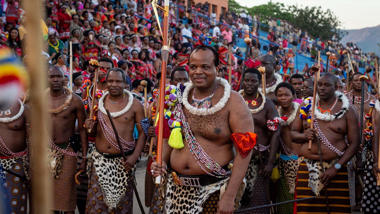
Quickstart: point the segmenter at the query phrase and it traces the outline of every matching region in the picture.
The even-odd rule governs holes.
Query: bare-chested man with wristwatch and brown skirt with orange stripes
[[[305,100],[307,105],[300,105],[293,122],[290,137],[292,142],[301,144],[301,154],[305,158],[298,169],[296,194],[298,198],[314,194],[325,196],[325,190],[322,191],[322,188],[326,187],[327,195],[331,197],[328,199],[330,212],[351,213],[346,164],[359,149],[359,121],[347,97],[336,92],[336,89],[335,75],[321,75],[315,100],[315,128],[310,129],[308,122],[312,105],[309,104],[309,99]],[[318,137],[315,137],[316,134]],[[309,140],[312,140],[311,150],[308,150]],[[320,170],[318,141],[324,173]],[[324,197],[297,203],[298,213],[326,211]]]

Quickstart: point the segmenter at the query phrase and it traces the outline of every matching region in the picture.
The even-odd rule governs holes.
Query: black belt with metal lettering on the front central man
[[[226,166],[223,166],[222,168],[225,169],[226,171],[229,171],[228,164]],[[227,178],[227,177],[219,178],[219,177],[211,176],[209,174],[188,176],[188,175],[178,174],[174,171],[171,173],[171,176],[173,177],[175,184],[182,185],[182,186],[189,186],[189,187],[204,187],[210,184],[215,184],[216,182],[219,182]]]

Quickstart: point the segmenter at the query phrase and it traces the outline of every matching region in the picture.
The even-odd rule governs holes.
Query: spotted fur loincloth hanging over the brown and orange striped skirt
[[[308,160],[305,158],[307,169],[309,170],[309,187],[311,188],[312,192],[319,197],[320,191],[323,189],[323,185],[321,184],[321,178],[319,177],[321,172],[320,167],[320,161],[317,160]],[[328,169],[332,167],[336,161],[338,161],[338,158],[335,160],[330,161],[323,161],[323,168]]]

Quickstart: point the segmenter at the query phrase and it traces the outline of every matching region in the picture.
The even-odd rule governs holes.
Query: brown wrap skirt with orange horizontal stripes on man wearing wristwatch
[[[299,165],[296,191],[297,199],[315,196],[309,187],[309,170],[306,161]],[[347,165],[342,166],[329,182],[327,193],[331,214],[351,213]],[[320,197],[299,201],[297,203],[297,214],[327,214],[325,189],[320,191]]]

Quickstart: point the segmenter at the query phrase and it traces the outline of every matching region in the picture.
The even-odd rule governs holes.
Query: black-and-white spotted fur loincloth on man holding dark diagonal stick
[[[89,155],[87,173],[91,173],[92,165],[95,168],[99,185],[104,194],[104,201],[109,211],[115,210],[127,192],[130,178],[120,161],[123,158],[105,158],[96,149]],[[130,169],[135,174],[136,164]]]

